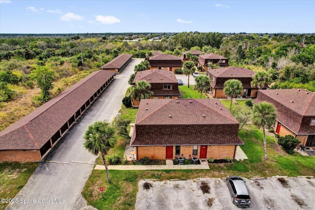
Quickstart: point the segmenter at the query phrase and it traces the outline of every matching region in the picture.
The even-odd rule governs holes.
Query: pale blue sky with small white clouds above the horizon
[[[315,0],[0,0],[0,33],[314,33]]]

